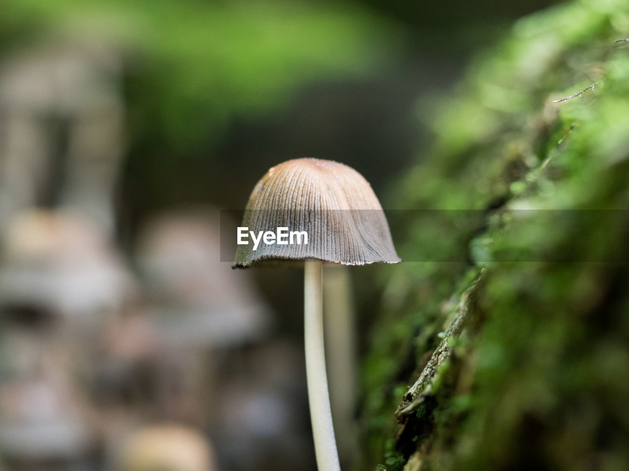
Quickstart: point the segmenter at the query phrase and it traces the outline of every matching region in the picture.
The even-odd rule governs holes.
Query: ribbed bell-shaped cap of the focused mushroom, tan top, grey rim
[[[265,244],[249,237],[234,268],[268,260],[320,260],[343,265],[399,263],[374,190],[342,163],[301,158],[270,168],[249,197],[242,227],[259,234],[278,227],[305,231],[308,244]],[[289,239],[290,241],[290,239]],[[296,240],[295,240],[296,242]]]

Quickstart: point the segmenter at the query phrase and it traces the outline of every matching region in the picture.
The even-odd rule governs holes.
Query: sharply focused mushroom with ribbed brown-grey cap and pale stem
[[[253,188],[238,244],[234,268],[305,261],[304,344],[316,461],[320,470],[340,470],[323,347],[322,267],[401,262],[382,207],[353,168],[314,158],[289,160]]]

